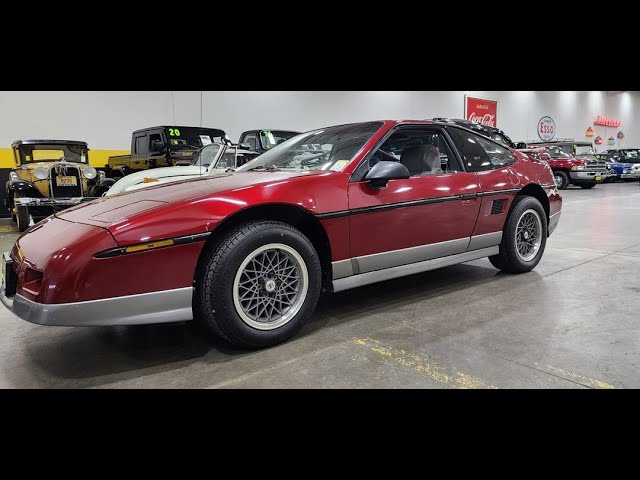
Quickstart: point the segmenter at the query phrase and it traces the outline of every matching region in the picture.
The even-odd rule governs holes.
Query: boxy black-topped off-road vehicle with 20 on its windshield
[[[202,147],[211,143],[229,145],[224,130],[204,127],[159,126],[136,130],[131,136],[131,154],[109,157],[108,177],[120,178],[155,167],[189,165]]]

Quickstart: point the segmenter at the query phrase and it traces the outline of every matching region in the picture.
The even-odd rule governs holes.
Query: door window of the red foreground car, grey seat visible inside
[[[399,129],[369,158],[363,174],[382,160],[402,163],[412,177],[461,171],[442,133],[432,128]]]

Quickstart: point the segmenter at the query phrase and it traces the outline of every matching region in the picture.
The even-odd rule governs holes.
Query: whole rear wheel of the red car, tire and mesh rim
[[[533,270],[547,244],[547,215],[540,201],[519,196],[511,207],[500,243],[500,253],[489,257],[491,264],[506,273]]]

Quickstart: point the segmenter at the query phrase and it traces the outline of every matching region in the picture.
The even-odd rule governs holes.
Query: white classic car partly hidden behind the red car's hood
[[[122,177],[107,190],[104,196],[131,192],[159,183],[179,182],[187,178],[213,175],[228,168],[237,168],[258,156],[251,150],[237,146],[212,143],[202,147],[193,160],[186,165],[162,167],[131,173]]]

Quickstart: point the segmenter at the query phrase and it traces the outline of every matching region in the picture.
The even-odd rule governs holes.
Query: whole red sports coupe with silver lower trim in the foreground
[[[261,347],[293,335],[322,290],[482,257],[529,271],[561,204],[545,162],[457,125],[328,127],[236,171],[56,213],[4,255],[0,296],[43,325],[195,318]]]

